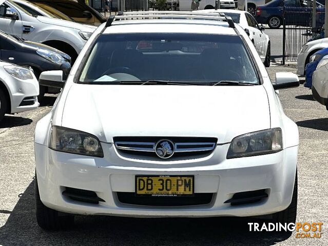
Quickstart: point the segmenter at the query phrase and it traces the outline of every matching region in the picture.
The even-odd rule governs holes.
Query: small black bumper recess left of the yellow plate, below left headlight
[[[66,187],[62,194],[63,196],[67,196],[75,201],[82,201],[93,204],[98,204],[100,201],[104,201],[102,198],[98,197],[94,191]]]

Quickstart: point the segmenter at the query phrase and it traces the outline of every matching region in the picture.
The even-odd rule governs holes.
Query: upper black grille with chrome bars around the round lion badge
[[[218,139],[212,137],[114,137],[114,144],[120,151],[156,157],[156,146],[161,140],[168,140],[173,144],[175,156],[195,156],[211,153]]]

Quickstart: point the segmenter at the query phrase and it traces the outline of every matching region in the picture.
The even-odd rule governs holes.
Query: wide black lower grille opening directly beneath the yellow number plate
[[[141,206],[196,206],[209,204],[213,198],[213,193],[195,193],[194,196],[136,196],[133,192],[117,192],[118,200],[121,203]]]

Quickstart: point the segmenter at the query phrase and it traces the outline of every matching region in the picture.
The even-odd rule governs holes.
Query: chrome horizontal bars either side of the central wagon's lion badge
[[[119,150],[155,152],[156,142],[117,141]],[[190,146],[190,148],[188,148]],[[197,152],[214,150],[216,142],[175,142],[175,152]]]

